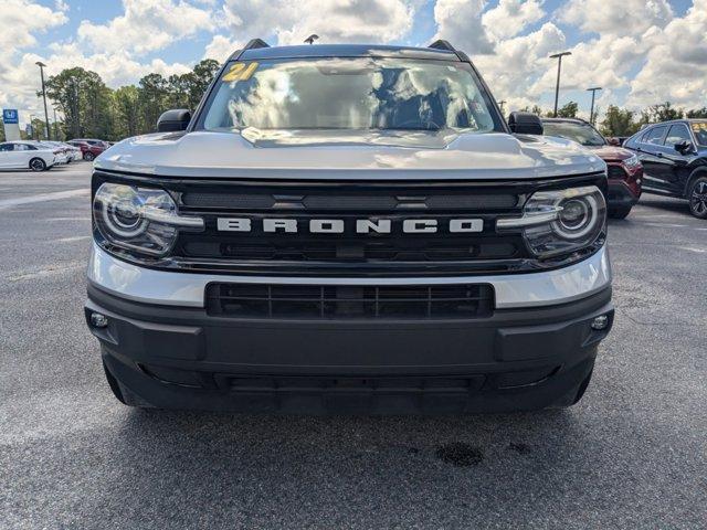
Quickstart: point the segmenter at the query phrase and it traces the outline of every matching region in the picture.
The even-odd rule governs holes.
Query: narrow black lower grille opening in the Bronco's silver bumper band
[[[207,311],[235,318],[484,318],[489,285],[325,286],[210,284]]]

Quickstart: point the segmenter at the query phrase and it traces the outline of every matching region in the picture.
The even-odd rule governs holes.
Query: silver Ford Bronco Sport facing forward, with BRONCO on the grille
[[[606,165],[538,128],[445,41],[251,41],[193,115],[95,162],[85,315],[116,398],[576,403],[613,321]]]

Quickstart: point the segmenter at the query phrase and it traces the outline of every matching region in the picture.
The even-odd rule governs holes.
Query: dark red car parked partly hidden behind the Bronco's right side
[[[542,118],[545,136],[558,136],[592,149],[609,166],[609,216],[624,219],[641,198],[643,166],[629,149],[613,146],[588,121],[577,118]]]

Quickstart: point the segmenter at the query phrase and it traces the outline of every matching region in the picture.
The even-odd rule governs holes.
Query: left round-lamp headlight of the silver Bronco
[[[178,231],[203,230],[203,220],[181,216],[163,190],[101,184],[93,200],[95,226],[109,243],[151,256],[167,254]]]

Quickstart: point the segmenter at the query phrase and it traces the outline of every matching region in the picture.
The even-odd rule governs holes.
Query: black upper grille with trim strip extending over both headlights
[[[395,170],[390,172],[391,180],[383,180],[383,173],[381,180],[140,177],[145,186],[168,190],[181,214],[204,220],[203,231],[180,231],[170,254],[156,258],[152,266],[194,273],[347,278],[466,276],[557,267],[560,259],[538,261],[523,231],[500,232],[497,220],[520,215],[527,198],[538,190],[605,186],[604,173],[520,180],[489,176],[473,181],[461,180],[460,171],[446,179],[447,171],[428,179],[414,172],[408,179]],[[95,191],[104,181],[133,183],[136,178],[97,171],[92,186]],[[312,230],[313,221],[326,220],[344,222],[344,230]],[[405,229],[410,220],[436,223],[437,230]],[[377,223],[376,229],[361,232],[359,221]],[[453,223],[469,221],[481,231],[463,232],[460,224],[452,229]],[[241,230],[241,222],[247,230]],[[275,222],[288,223],[287,230],[282,225],[273,230]],[[383,230],[380,223],[390,224]]]

